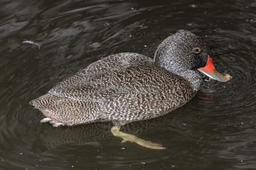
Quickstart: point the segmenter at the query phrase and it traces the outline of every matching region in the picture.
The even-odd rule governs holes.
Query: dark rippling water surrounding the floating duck
[[[0,169],[256,169],[255,1],[15,0],[0,11]],[[181,109],[122,127],[166,150],[121,143],[111,123],[39,123],[31,99],[107,55],[153,57],[179,29],[205,38],[233,79],[206,77]]]

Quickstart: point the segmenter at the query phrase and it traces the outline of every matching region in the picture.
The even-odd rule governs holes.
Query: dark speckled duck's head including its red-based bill
[[[157,48],[155,64],[170,72],[196,71],[218,81],[228,81],[231,76],[219,73],[211,57],[210,46],[200,36],[179,30],[166,38]]]

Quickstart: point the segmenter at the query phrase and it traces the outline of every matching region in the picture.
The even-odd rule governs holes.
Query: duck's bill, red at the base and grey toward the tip
[[[197,70],[205,74],[206,76],[213,78],[214,80],[218,80],[222,82],[229,81],[230,78],[232,78],[230,74],[218,72],[213,65],[213,59],[211,59],[210,56],[208,56],[208,61],[206,66],[199,68]]]

